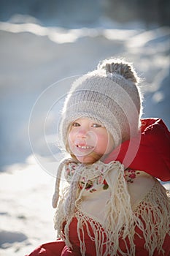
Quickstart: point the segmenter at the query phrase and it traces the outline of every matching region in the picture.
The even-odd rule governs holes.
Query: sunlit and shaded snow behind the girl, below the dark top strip
[[[0,255],[23,256],[55,239],[59,110],[77,75],[109,56],[131,61],[145,79],[143,117],[163,118],[170,128],[170,29],[136,24],[63,29],[0,22]]]

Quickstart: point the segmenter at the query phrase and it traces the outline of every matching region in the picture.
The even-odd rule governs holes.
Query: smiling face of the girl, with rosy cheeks
[[[71,124],[69,148],[80,162],[96,162],[113,147],[112,136],[102,124],[88,118],[79,118]]]

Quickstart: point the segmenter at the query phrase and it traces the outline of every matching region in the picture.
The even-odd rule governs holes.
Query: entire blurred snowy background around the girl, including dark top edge
[[[23,256],[55,238],[50,174],[58,161],[45,171],[34,159],[28,124],[35,103],[31,143],[47,159],[58,153],[58,112],[72,76],[109,56],[123,57],[144,78],[143,117],[163,118],[170,129],[169,5],[0,0],[0,255]]]

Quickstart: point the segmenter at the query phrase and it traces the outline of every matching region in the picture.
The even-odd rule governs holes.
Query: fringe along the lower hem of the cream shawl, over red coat
[[[145,241],[144,248],[149,256],[154,255],[155,251],[158,251],[159,255],[164,255],[163,242],[167,234],[170,236],[170,203],[167,195],[166,189],[159,184],[159,181],[155,181],[155,185],[150,189],[150,192],[136,206],[130,222],[126,222],[126,225],[118,231],[115,230],[115,232],[112,232],[112,227],[106,230],[106,227],[100,223],[85,216],[81,211],[76,211],[74,217],[77,218],[77,234],[80,240],[81,254],[85,256],[84,230],[86,230],[91,241],[95,243],[96,255],[135,256],[134,234],[136,233],[136,227],[139,227]],[[115,219],[112,219],[112,223],[115,223]],[[142,238],[139,233],[136,233],[136,235]],[[126,252],[121,250],[119,238],[123,240]]]

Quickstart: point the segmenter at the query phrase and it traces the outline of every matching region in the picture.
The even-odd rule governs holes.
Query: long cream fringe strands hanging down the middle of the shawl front
[[[109,173],[112,174],[112,173]],[[140,219],[137,218],[131,208],[131,197],[128,193],[128,186],[124,178],[123,165],[120,166],[118,172],[113,173],[114,176],[107,176],[107,184],[111,188],[111,198],[106,203],[106,216],[104,219],[104,230],[107,230],[107,246],[104,255],[116,255],[123,252],[119,246],[119,238],[121,237],[128,249],[125,238],[131,245],[131,252],[128,255],[135,255],[134,233],[136,225],[142,228]]]

